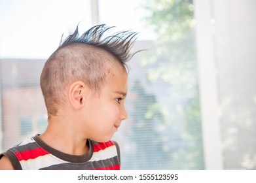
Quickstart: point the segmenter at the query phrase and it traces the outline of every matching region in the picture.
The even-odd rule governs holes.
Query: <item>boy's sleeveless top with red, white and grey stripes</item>
[[[48,146],[39,138],[39,135],[35,135],[35,137],[30,137],[10,148],[1,156],[7,156],[14,169],[120,169],[120,151],[116,142],[95,142],[88,139],[87,143],[89,146],[88,152],[81,156],[74,156]]]

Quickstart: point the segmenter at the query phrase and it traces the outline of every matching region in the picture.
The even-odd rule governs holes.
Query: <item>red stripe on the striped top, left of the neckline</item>
[[[19,161],[27,160],[27,159],[35,159],[39,156],[45,156],[46,154],[49,154],[49,152],[46,152],[43,150],[43,148],[35,148],[33,150],[26,150],[24,152],[16,152],[15,155],[19,159]]]

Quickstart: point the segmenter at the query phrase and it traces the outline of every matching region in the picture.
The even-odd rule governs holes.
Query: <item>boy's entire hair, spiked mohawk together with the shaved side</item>
[[[67,91],[73,82],[84,82],[97,95],[115,71],[126,72],[137,33],[120,31],[109,35],[112,30],[113,27],[96,25],[79,36],[77,27],[47,59],[40,84],[48,118],[56,116],[67,102]]]

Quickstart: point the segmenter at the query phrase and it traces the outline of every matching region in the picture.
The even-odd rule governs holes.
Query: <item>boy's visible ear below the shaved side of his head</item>
[[[79,109],[84,106],[84,94],[85,94],[84,82],[77,81],[71,84],[69,87],[69,102],[75,109]]]

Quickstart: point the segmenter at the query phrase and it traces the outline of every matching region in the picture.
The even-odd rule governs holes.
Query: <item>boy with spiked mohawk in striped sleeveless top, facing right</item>
[[[137,33],[96,25],[78,27],[48,58],[41,90],[48,112],[44,133],[0,155],[0,169],[120,169],[110,141],[128,116],[126,61]]]

